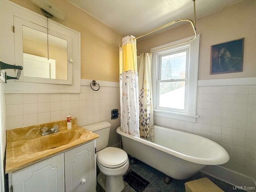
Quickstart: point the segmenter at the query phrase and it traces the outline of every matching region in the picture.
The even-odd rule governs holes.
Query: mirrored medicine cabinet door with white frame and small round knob
[[[70,30],[47,20],[43,24],[14,16],[15,62],[23,67],[16,81],[72,85]]]

